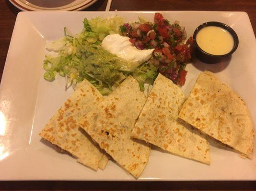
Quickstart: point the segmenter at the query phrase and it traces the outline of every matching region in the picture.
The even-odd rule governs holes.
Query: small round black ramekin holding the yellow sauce
[[[204,28],[204,27],[207,27],[207,26],[217,26],[217,27],[221,27],[225,30],[227,30],[228,32],[230,32],[230,34],[233,36],[233,40],[234,40],[234,46],[233,46],[233,49],[229,52],[229,53],[226,53],[226,54],[223,54],[223,55],[213,55],[213,54],[210,54],[210,53],[206,53],[205,51],[203,51],[199,46],[198,46],[198,43],[196,41],[196,37],[197,37],[197,34],[198,32]],[[198,28],[195,30],[194,32],[194,35],[193,35],[193,40],[194,40],[194,44],[195,44],[195,55],[196,57],[204,62],[204,63],[208,63],[208,64],[215,64],[215,63],[218,63],[220,62],[223,58],[226,58],[228,56],[230,56],[233,52],[235,52],[235,50],[237,49],[238,47],[238,37],[237,37],[237,34],[234,32],[234,30],[229,27],[228,25],[224,24],[224,23],[221,23],[221,22],[216,22],[216,21],[210,21],[210,22],[205,22],[201,25],[198,26]]]

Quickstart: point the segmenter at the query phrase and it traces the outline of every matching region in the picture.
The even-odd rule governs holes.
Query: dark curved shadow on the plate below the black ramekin
[[[195,58],[192,64],[202,72],[204,72],[205,70],[209,70],[213,73],[218,73],[224,70],[226,67],[228,67],[231,57],[232,56],[229,56],[216,64],[206,64]]]

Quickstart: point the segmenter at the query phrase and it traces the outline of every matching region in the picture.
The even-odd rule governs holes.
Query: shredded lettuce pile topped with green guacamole
[[[66,88],[87,79],[103,95],[112,92],[130,74],[140,83],[141,90],[145,83],[152,84],[157,69],[150,61],[132,68],[131,62],[102,48],[105,36],[120,33],[119,26],[122,24],[121,17],[96,17],[89,21],[85,18],[83,30],[78,35],[70,36],[64,28],[65,37],[47,46],[48,51],[58,55],[46,55],[44,78],[51,82],[59,74],[66,78]]]

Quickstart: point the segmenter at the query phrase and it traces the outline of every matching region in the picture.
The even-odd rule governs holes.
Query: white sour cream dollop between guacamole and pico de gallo
[[[109,34],[102,41],[102,47],[118,57],[139,64],[149,60],[154,49],[138,50],[129,41],[129,37],[119,34]]]

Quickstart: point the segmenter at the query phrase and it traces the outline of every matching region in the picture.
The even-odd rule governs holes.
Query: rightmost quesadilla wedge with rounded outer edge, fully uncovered
[[[253,158],[254,129],[244,101],[213,73],[198,76],[179,117],[233,149]]]

